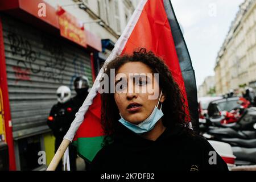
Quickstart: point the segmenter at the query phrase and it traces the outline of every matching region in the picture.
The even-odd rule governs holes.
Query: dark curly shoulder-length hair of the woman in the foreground
[[[185,99],[177,83],[174,81],[172,74],[160,57],[153,52],[140,48],[134,51],[133,55],[121,55],[115,57],[106,65],[104,73],[110,77],[110,69],[115,69],[115,72],[125,63],[141,62],[146,64],[152,73],[159,73],[159,86],[163,90],[166,99],[162,104],[163,125],[172,127],[177,124],[183,125],[184,129],[188,129],[188,121],[190,116],[185,113]],[[110,83],[109,83],[110,88]],[[119,110],[114,100],[114,93],[101,94],[101,122],[105,133],[105,144],[108,143],[109,137],[117,130],[118,119],[120,119]]]

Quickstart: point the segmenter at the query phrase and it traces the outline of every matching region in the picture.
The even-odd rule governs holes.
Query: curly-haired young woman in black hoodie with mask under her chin
[[[109,78],[111,69],[115,92],[101,94],[104,147],[89,170],[228,170],[207,140],[189,129],[184,97],[163,60],[142,48],[110,62]]]

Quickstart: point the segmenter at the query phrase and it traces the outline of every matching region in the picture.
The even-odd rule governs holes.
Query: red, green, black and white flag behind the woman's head
[[[142,47],[166,61],[184,94],[185,105],[189,107],[187,112],[198,121],[195,74],[170,0],[142,0],[105,64],[115,56],[133,53],[135,49]],[[102,73],[103,69],[64,137],[74,140],[80,156],[89,161],[101,149],[104,137],[100,122],[101,98],[97,92]],[[197,131],[198,123],[192,123],[192,126]]]

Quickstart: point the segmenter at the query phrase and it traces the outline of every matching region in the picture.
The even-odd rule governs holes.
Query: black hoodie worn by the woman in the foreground
[[[114,142],[95,156],[89,171],[228,171],[217,152],[209,154],[214,149],[206,139],[188,134],[182,126],[167,127],[155,141],[121,124],[118,131]],[[214,156],[216,164],[210,164]]]

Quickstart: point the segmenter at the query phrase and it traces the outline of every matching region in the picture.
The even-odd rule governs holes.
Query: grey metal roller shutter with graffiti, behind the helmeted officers
[[[85,48],[2,15],[7,82],[14,139],[49,131],[49,111],[56,89],[72,89],[76,76],[92,83],[90,55]]]

